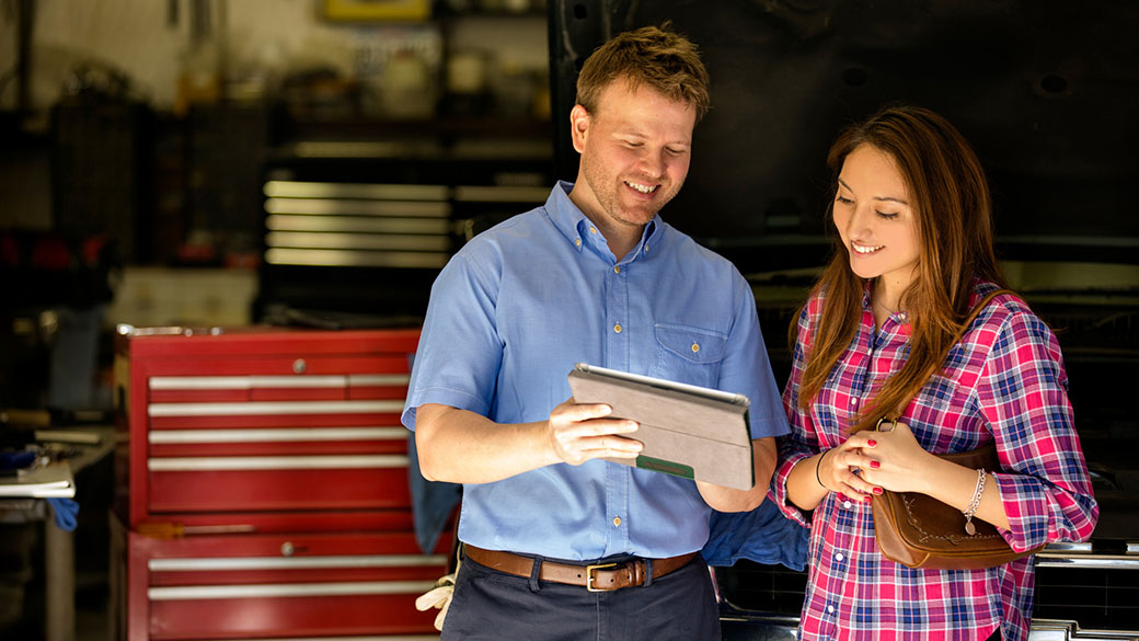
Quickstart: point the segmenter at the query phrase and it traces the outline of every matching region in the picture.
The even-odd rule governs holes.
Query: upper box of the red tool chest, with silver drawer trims
[[[118,513],[134,527],[181,513],[410,506],[400,413],[418,335],[118,336]]]

